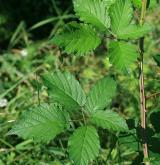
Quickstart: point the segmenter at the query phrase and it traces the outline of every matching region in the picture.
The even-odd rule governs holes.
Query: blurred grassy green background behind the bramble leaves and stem
[[[135,13],[136,17],[139,11]],[[153,32],[145,39],[147,96],[160,92],[159,13],[160,6],[155,3],[150,7],[146,19],[153,25]],[[0,165],[70,164],[65,148],[67,135],[57,137],[49,144],[37,144],[32,140],[24,141],[17,136],[7,135],[22,111],[39,102],[47,102],[47,93],[40,78],[45,72],[57,69],[70,71],[86,92],[104,75],[114,76],[118,91],[112,103],[113,109],[126,119],[134,119],[135,124],[139,121],[138,64],[127,75],[116,72],[107,57],[109,40],[105,38],[94,55],[76,57],[64,54],[50,40],[71,20],[76,20],[71,0],[0,0]],[[160,126],[159,108],[160,98],[147,101],[147,120],[151,128],[154,128],[155,121]],[[132,120],[129,121],[132,123]],[[151,128],[148,129],[152,135],[155,132]],[[132,131],[135,135],[136,130]],[[160,153],[157,147],[160,134],[157,132],[156,140],[151,139],[154,143],[156,141],[150,147],[153,155]],[[138,165],[141,162],[141,151],[135,136],[122,137],[115,146],[114,135],[101,130],[100,134],[103,146],[98,157],[100,165],[105,165],[106,160],[107,165],[119,165],[120,161],[125,165]]]

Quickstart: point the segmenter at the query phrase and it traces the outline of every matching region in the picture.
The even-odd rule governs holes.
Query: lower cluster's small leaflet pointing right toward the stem
[[[93,113],[90,121],[98,127],[111,131],[127,131],[126,121],[116,112],[106,110]]]

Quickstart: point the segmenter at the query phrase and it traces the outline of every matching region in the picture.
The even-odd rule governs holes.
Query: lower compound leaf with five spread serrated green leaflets
[[[99,80],[87,97],[79,82],[69,73],[56,72],[45,75],[43,79],[51,100],[59,104],[44,104],[25,112],[9,134],[49,142],[70,129],[74,122],[80,122],[81,125],[69,138],[68,152],[75,164],[88,164],[99,153],[98,127],[110,131],[128,131],[121,116],[104,110],[116,92],[116,83],[112,78]],[[75,118],[76,114],[79,114],[78,119]]]

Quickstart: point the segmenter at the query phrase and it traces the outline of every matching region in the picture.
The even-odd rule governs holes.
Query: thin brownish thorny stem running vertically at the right
[[[142,0],[142,10],[140,17],[140,25],[144,24],[145,14],[147,8],[147,0]],[[148,161],[148,145],[147,145],[147,135],[146,135],[146,97],[144,89],[144,72],[143,72],[143,56],[144,56],[144,37],[140,38],[139,42],[140,47],[140,77],[139,77],[139,87],[140,87],[140,101],[141,101],[141,129],[142,129],[142,142],[143,142],[143,155],[145,165],[149,165]]]

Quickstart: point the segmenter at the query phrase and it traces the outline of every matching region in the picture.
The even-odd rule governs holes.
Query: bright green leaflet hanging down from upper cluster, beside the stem
[[[135,45],[117,41],[113,41],[109,45],[109,60],[120,71],[128,72],[137,57]]]

